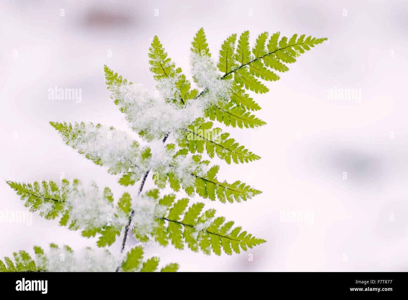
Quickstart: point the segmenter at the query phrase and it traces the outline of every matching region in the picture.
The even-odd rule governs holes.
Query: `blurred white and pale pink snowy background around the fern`
[[[0,210],[24,210],[5,180],[59,182],[63,172],[109,185],[115,196],[124,190],[118,177],[67,147],[48,124],[83,120],[126,129],[105,89],[104,64],[153,88],[147,51],[154,35],[188,74],[200,27],[214,58],[231,33],[249,30],[252,40],[263,31],[305,33],[329,42],[267,83],[269,93],[255,96],[262,107],[257,116],[267,125],[228,128],[262,160],[230,166],[215,160],[219,180],[240,179],[263,193],[241,204],[204,200],[268,242],[233,256],[154,245],[147,255],[178,262],[180,271],[408,271],[407,15],[407,2],[395,0],[2,0]],[[82,102],[48,100],[55,85],[81,88]],[[361,89],[361,103],[329,100],[335,86]],[[313,211],[313,224],[280,222],[286,210]],[[33,245],[48,249],[50,242],[95,245],[36,214],[32,226],[0,222],[0,236],[1,257]]]

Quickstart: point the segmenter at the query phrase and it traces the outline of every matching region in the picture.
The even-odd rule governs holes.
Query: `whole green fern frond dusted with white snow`
[[[60,184],[40,181],[33,184],[8,181],[25,206],[40,216],[58,219],[61,226],[80,230],[84,237],[98,237],[95,249],[74,253],[68,246],[51,244],[46,253],[34,247],[35,258],[25,251],[14,253],[14,261],[0,260],[1,271],[155,271],[156,257],[144,260],[143,247],[126,247],[128,231],[141,242],[154,240],[162,246],[220,255],[240,253],[265,240],[234,227],[234,222],[216,217],[215,210],[204,209],[204,203],[190,204],[188,198],[174,194],[161,195],[169,186],[188,196],[223,203],[246,201],[261,191],[248,184],[227,183],[217,179],[219,166],[210,159],[217,156],[227,164],[259,160],[252,151],[216,127],[254,128],[266,124],[254,115],[261,107],[247,91],[266,93],[263,81],[279,79],[277,72],[288,71],[286,64],[326,38],[279,32],[268,38],[261,33],[251,48],[249,32],[229,36],[221,46],[218,63],[212,60],[204,30],[200,29],[191,46],[191,78],[167,56],[157,36],[149,48],[150,71],[157,82],[156,91],[133,84],[107,66],[106,85],[111,98],[124,113],[126,121],[140,140],[124,131],[90,122],[50,122],[64,142],[95,164],[118,175],[119,183],[129,192],[114,198],[108,187],[94,182],[82,183],[63,179]],[[193,87],[194,85],[194,87]],[[207,159],[206,159],[207,158]],[[157,189],[144,191],[146,180]],[[132,186],[139,182],[139,187]],[[122,244],[120,255],[109,247]],[[102,249],[100,249],[102,248]],[[64,254],[69,263],[59,258]],[[97,254],[98,253],[98,254]],[[86,263],[84,260],[88,259]],[[176,271],[177,264],[161,271]]]

